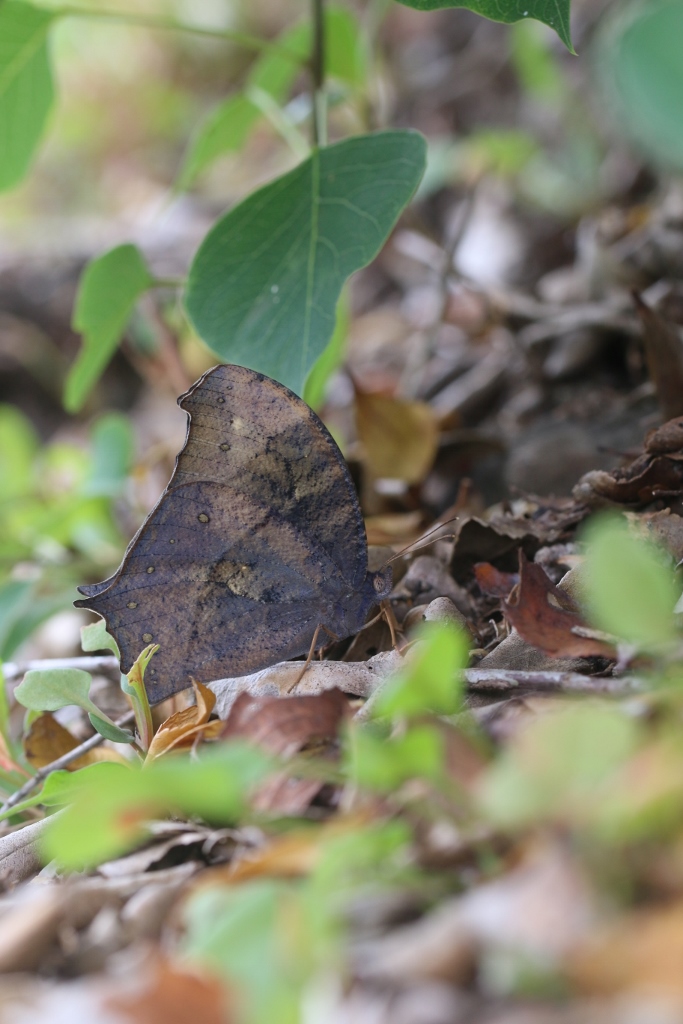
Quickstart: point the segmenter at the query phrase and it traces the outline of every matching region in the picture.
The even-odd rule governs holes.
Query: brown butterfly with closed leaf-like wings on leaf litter
[[[122,672],[159,644],[156,703],[189,685],[307,654],[321,630],[357,633],[391,590],[368,568],[355,488],[308,406],[263,374],[209,370],[178,398],[185,443],[168,486],[103,583],[79,587]]]

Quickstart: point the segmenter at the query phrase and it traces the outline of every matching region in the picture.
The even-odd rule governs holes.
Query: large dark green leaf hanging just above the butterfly
[[[344,282],[380,251],[424,166],[417,132],[377,132],[316,151],[252,193],[193,262],[185,306],[200,337],[301,394]]]

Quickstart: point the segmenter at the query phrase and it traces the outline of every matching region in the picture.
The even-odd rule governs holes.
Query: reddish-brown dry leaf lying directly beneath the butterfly
[[[225,720],[221,738],[240,736],[269,754],[289,758],[304,746],[335,739],[346,715],[348,700],[336,688],[300,697],[241,693]]]

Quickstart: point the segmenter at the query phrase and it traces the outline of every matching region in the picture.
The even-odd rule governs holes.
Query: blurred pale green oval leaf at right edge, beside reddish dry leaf
[[[595,626],[645,649],[675,641],[679,592],[668,556],[612,515],[596,516],[584,540],[586,602]]]

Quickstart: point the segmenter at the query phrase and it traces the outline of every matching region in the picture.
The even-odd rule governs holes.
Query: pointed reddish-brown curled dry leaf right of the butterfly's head
[[[551,604],[554,597],[557,604]],[[600,640],[578,636],[582,618],[567,607],[567,595],[554,586],[541,565],[520,552],[519,590],[503,602],[506,617],[527,643],[553,657],[614,657],[614,649]]]

